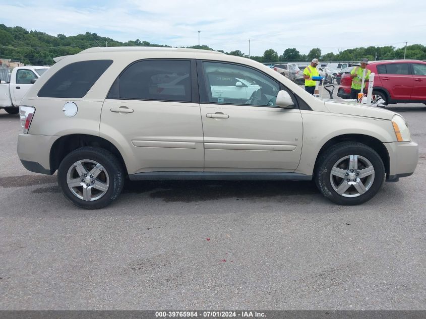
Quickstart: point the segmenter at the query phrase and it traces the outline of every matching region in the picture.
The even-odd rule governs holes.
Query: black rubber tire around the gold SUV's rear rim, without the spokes
[[[101,179],[106,178],[106,181],[109,182],[109,186],[106,192],[100,192],[99,190],[95,189],[94,185],[93,187],[91,187],[91,192],[99,192],[103,194],[102,197],[98,199],[90,201],[80,199],[77,197],[77,195],[75,195],[75,193],[72,192],[70,187],[68,187],[67,176],[70,173],[69,170],[72,171],[73,168],[75,169],[74,163],[82,160],[94,161],[100,164],[102,166],[102,170],[99,173],[99,176],[101,176]],[[90,164],[87,167],[88,168],[86,169],[86,171],[88,172],[90,170]],[[74,174],[75,176],[72,178],[78,177],[79,175],[76,169]],[[62,193],[64,194],[65,198],[67,198],[71,203],[84,209],[99,209],[109,205],[120,195],[124,185],[124,175],[125,174],[123,167],[112,153],[102,148],[89,146],[82,147],[71,152],[62,160],[57,170],[57,181],[60,188],[62,189]],[[98,179],[95,177],[93,180]],[[104,180],[99,180],[99,182],[103,181]],[[96,183],[96,181],[94,181],[94,183]],[[83,187],[84,186],[76,186],[73,189],[75,189],[75,192],[83,196]]]

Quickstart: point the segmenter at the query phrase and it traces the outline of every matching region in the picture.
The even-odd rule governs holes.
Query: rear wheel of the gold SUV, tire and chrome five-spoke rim
[[[97,147],[82,147],[63,159],[57,180],[71,203],[85,209],[99,209],[121,193],[124,172],[112,153]]]

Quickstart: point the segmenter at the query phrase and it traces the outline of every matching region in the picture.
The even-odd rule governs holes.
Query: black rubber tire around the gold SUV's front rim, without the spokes
[[[341,181],[340,185],[343,185],[343,183],[346,183],[346,181],[344,180],[346,177],[340,178],[338,176],[334,176],[334,174],[332,176],[331,170],[333,169],[335,163],[339,162],[342,158],[350,155],[358,156],[359,166],[362,165],[362,157],[370,161],[374,168],[374,174],[371,174],[370,177],[360,179],[360,182],[362,183],[370,183],[368,189],[367,187],[364,187],[364,189],[367,189],[365,193],[358,193],[355,189],[355,186],[350,185],[349,188],[347,188],[347,192],[349,194],[346,194],[345,192],[343,193],[344,195],[339,195],[333,187],[331,179],[333,179],[333,182],[336,182],[336,185],[339,180]],[[348,172],[350,171],[348,170]],[[357,170],[355,170],[355,173],[356,172]],[[317,184],[317,187],[320,192],[326,198],[339,205],[359,205],[371,200],[377,194],[383,184],[383,180],[385,179],[385,166],[383,165],[383,161],[380,156],[371,147],[358,142],[342,142],[330,147],[320,156],[314,174],[315,183]],[[350,176],[347,177],[349,178]],[[358,182],[356,183],[358,184]],[[353,192],[352,195],[351,192]]]

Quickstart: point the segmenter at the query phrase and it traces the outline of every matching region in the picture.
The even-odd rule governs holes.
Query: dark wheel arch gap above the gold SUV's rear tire
[[[50,148],[49,162],[50,162],[50,174],[53,174],[59,167],[60,162],[72,151],[77,150],[85,146],[94,146],[105,149],[112,154],[114,154],[120,164],[123,166],[123,169],[128,175],[126,163],[121,156],[121,153],[118,149],[106,139],[103,139],[94,135],[86,134],[71,134],[65,135],[57,139],[52,147]]]

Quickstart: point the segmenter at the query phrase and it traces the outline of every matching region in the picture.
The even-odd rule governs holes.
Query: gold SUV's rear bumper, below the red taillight
[[[50,149],[59,136],[23,134],[18,136],[18,156],[26,169],[35,173],[52,174]]]

